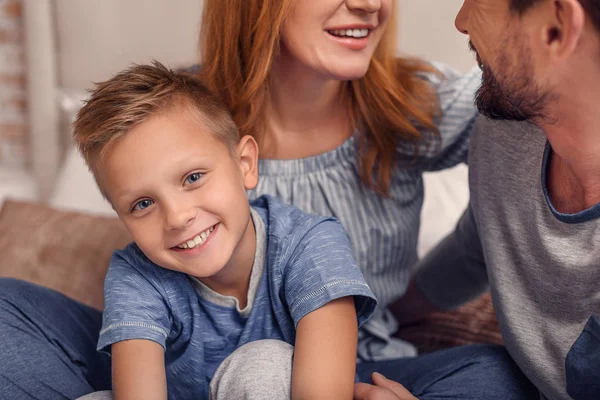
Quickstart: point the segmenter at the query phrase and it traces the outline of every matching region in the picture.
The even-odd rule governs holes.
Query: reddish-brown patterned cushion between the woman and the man
[[[489,293],[457,310],[432,313],[402,326],[396,336],[413,343],[422,353],[472,343],[502,344]]]

